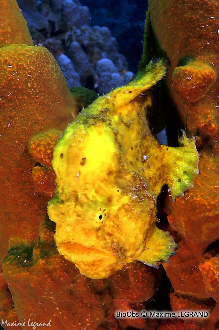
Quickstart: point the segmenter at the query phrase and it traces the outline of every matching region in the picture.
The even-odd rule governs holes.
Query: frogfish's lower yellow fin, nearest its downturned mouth
[[[145,247],[145,250],[138,256],[137,260],[158,268],[159,262],[168,262],[168,258],[176,254],[175,248],[177,244],[168,232],[160,230],[155,226]]]

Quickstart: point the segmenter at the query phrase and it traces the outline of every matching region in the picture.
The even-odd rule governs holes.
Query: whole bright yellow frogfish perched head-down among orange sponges
[[[96,99],[68,125],[52,166],[57,190],[48,215],[58,251],[92,279],[107,278],[140,260],[158,267],[175,254],[168,232],[156,226],[156,201],[167,184],[173,199],[198,174],[195,140],[159,145],[147,122],[147,91],[165,75],[162,60],[144,74]]]

